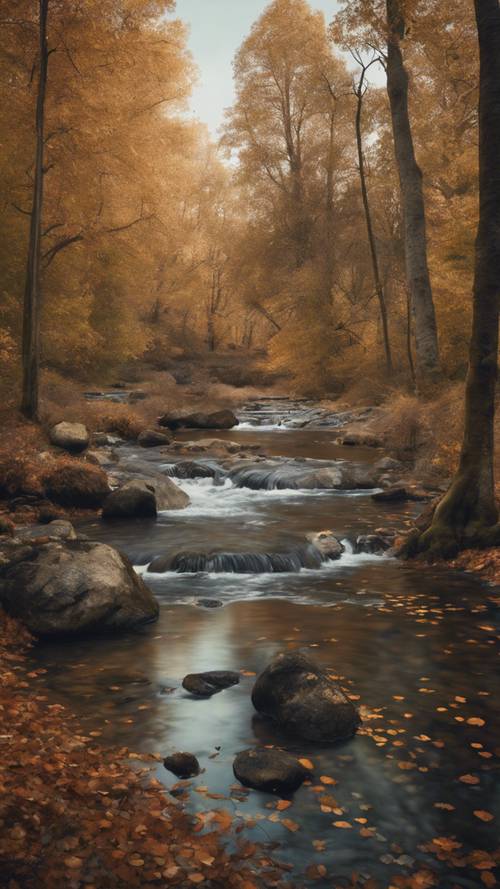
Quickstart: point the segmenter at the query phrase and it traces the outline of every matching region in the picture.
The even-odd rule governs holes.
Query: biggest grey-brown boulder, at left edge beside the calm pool
[[[0,602],[35,636],[130,630],[158,617],[129,560],[106,544],[35,542],[2,555]]]

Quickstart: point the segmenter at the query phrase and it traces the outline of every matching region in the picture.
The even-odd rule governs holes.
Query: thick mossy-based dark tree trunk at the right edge
[[[500,304],[500,6],[475,0],[480,53],[479,228],[473,321],[460,465],[432,524],[408,543],[410,554],[452,554],[500,543],[494,486],[495,389]]]

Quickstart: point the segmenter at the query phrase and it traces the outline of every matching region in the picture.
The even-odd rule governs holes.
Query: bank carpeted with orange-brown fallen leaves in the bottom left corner
[[[186,814],[151,774],[160,754],[110,749],[99,732],[85,734],[44,693],[45,671],[26,659],[30,644],[0,610],[2,886],[290,885],[264,848],[237,836],[229,810]]]

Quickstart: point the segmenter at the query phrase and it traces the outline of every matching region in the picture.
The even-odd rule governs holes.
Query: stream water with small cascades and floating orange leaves
[[[317,415],[296,428],[308,410],[263,402],[246,411],[237,430],[216,434],[242,447],[309,458],[314,466],[366,465],[380,457],[339,448],[334,429]],[[139,455],[127,447],[120,456],[169,471],[156,451]],[[313,881],[319,887],[347,885],[353,872],[389,886],[429,867],[443,889],[485,885],[481,874],[490,872],[487,853],[500,822],[494,781],[500,599],[458,572],[353,553],[358,534],[404,529],[418,512],[415,504],[376,504],[369,491],[251,490],[219,482],[180,481],[191,506],[162,513],[157,522],[81,527],[128,554],[160,601],[160,619],[122,638],[40,645],[33,659],[47,670],[39,680],[46,693],[76,712],[88,731],[100,732],[103,743],[194,753],[204,771],[191,782],[187,805],[227,809],[249,824],[251,836],[280,842],[279,857],[295,865],[299,886],[309,885],[308,865],[326,867],[328,876]],[[308,532],[324,529],[342,538],[346,551],[320,570],[147,570],[155,557],[182,551],[289,551]],[[219,607],[203,607],[207,599]],[[283,737],[254,712],[254,674],[278,651],[297,647],[339,676],[361,706],[356,738],[317,747]],[[219,669],[241,671],[240,684],[209,700],[182,690],[187,673]],[[312,786],[303,786],[283,813],[271,808],[270,795],[234,789],[235,753],[258,743],[282,745],[314,763]],[[167,788],[176,783],[161,764],[157,777]]]

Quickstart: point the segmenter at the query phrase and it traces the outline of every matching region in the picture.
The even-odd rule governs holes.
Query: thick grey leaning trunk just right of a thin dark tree
[[[402,0],[386,0],[386,8],[387,92],[404,216],[406,276],[415,318],[417,374],[424,380],[439,373],[439,346],[427,263],[422,172],[413,146],[408,110],[408,73],[401,52],[401,41],[405,35]]]

